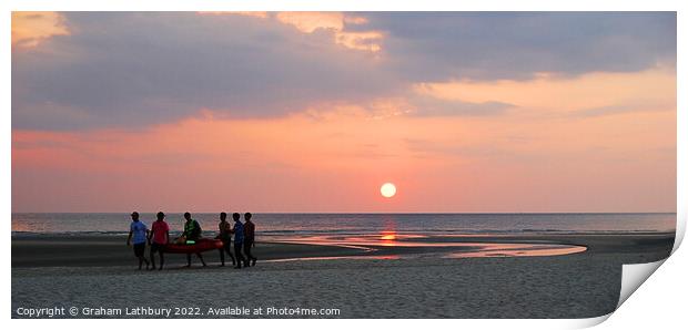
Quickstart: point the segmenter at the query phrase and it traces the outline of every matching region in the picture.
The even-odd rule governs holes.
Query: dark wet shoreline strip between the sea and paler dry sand
[[[674,234],[530,234],[530,235],[416,235],[395,240],[351,239],[355,236],[318,236],[317,239],[275,238],[256,241],[253,249],[261,261],[280,259],[334,257],[409,257],[451,252],[499,250],[504,246],[520,245],[526,250],[545,245],[585,247],[581,254],[659,254],[668,256]],[[125,237],[109,235],[41,235],[12,237],[12,268],[29,267],[108,267],[134,265],[131,247]],[[492,245],[492,246],[480,246]],[[150,246],[146,246],[146,258]],[[203,252],[209,264],[219,262],[215,250]],[[508,256],[503,256],[508,257]],[[512,256],[514,257],[514,256]],[[524,257],[527,257],[524,256]],[[193,260],[196,258],[194,257]],[[226,261],[231,261],[229,257]],[[185,255],[165,254],[165,265],[185,264]],[[230,262],[231,264],[231,262]]]

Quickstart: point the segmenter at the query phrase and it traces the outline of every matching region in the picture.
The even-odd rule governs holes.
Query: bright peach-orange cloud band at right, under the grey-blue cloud
[[[646,111],[676,109],[676,72],[595,72],[575,78],[540,74],[526,81],[451,81],[418,83],[413,91],[442,100],[502,102],[522,109],[568,113],[625,105]]]

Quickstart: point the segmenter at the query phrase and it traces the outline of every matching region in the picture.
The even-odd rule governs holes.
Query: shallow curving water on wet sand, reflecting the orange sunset
[[[442,238],[442,239],[439,239]],[[447,241],[447,238],[456,239]],[[489,237],[485,237],[489,240]],[[492,257],[546,257],[579,254],[585,246],[555,243],[496,243],[461,241],[461,237],[408,235],[383,231],[380,235],[322,235],[293,236],[274,239],[275,243],[336,246],[364,250],[366,255],[336,257],[286,258],[272,261],[336,260],[336,259],[405,259],[405,258],[492,258]]]

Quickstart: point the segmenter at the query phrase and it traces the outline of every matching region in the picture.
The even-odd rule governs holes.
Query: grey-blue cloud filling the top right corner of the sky
[[[676,64],[675,12],[366,12],[414,81],[525,80]],[[355,28],[355,27],[352,27]]]

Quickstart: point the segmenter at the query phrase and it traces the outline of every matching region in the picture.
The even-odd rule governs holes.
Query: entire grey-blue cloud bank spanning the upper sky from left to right
[[[570,80],[668,68],[675,76],[675,13],[41,17],[61,28],[27,37],[22,44],[36,45],[13,53],[13,128],[138,127],[202,110],[274,117],[380,99],[403,99],[413,115],[485,115],[524,104],[504,95],[416,95],[417,87],[539,83],[543,72]]]

